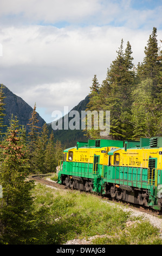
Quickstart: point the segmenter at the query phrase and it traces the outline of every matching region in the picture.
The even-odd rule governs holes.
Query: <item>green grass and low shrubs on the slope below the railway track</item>
[[[72,239],[107,235],[93,243],[162,244],[157,228],[132,220],[128,212],[92,194],[54,190],[41,184],[36,185],[33,194],[36,232],[31,243],[63,244]],[[127,227],[129,220],[133,224]]]

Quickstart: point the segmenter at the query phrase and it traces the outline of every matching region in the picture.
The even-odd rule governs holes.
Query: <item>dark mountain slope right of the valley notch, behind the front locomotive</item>
[[[89,96],[86,96],[84,100],[80,101],[77,106],[75,106],[71,111],[78,111],[80,114],[80,127],[81,127],[81,111],[86,110],[86,106],[89,102]],[[70,112],[71,112],[70,111]],[[69,113],[68,113],[69,115]],[[69,118],[68,115],[65,115],[62,119],[62,126],[64,127],[64,120],[68,118],[68,121],[73,118]],[[49,124],[49,130],[52,131],[52,125]],[[80,130],[53,130],[55,139],[59,139],[64,148],[74,147],[77,141],[87,141],[87,137],[84,135],[85,133]]]

